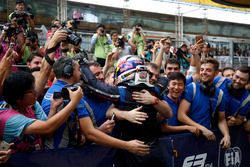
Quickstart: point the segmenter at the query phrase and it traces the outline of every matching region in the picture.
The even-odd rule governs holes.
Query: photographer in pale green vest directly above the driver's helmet
[[[146,46],[146,39],[142,31],[142,25],[136,24],[132,32],[128,34],[128,43],[132,48],[136,48],[135,55],[141,55]]]

